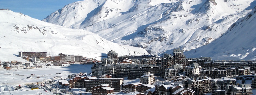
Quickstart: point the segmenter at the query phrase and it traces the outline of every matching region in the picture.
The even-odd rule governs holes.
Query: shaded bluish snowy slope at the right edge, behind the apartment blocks
[[[212,43],[185,52],[187,57],[207,56],[217,60],[256,59],[256,7],[245,17],[237,20],[223,36]]]

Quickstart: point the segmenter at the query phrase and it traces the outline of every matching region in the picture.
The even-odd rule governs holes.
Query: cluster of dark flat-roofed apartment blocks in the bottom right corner
[[[203,95],[212,93],[212,95],[252,95],[251,84],[237,84],[233,78],[189,78],[182,81],[184,87],[190,88]]]

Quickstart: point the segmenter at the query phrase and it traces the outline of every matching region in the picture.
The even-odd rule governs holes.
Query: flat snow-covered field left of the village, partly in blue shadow
[[[43,95],[50,94],[49,91],[45,92],[42,89],[38,90],[30,90],[29,88],[24,88],[22,91],[14,90],[16,86],[26,86],[26,84],[30,83],[37,83],[41,84],[43,81],[48,81],[50,79],[58,80],[61,78],[68,78],[68,75],[79,73],[79,72],[86,72],[91,73],[92,65],[80,65],[74,64],[70,65],[69,67],[66,66],[69,64],[65,64],[64,67],[57,67],[57,66],[45,66],[43,68],[36,68],[36,69],[17,69],[17,70],[0,70],[0,95],[10,95],[11,91],[12,95],[38,95],[42,93]],[[61,74],[56,74],[61,73]],[[31,74],[35,74],[32,78],[27,78],[31,76]],[[36,77],[40,77],[39,79],[35,79]]]

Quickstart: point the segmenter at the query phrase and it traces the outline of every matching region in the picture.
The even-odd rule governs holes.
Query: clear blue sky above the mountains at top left
[[[42,20],[65,5],[82,0],[1,0],[0,9],[20,12]]]

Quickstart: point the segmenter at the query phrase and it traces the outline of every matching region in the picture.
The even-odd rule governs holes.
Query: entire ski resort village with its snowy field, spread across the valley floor
[[[214,61],[172,54],[118,56],[97,61],[82,55],[18,52],[26,62],[1,62],[1,94],[252,95],[255,61]]]

